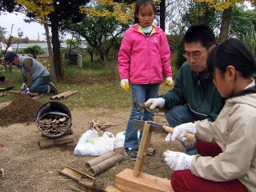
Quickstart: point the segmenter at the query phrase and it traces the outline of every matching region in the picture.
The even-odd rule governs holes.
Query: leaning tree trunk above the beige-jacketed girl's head
[[[219,42],[224,42],[227,39],[227,34],[229,33],[230,18],[231,18],[232,6],[226,9],[222,13],[222,25],[219,33]]]

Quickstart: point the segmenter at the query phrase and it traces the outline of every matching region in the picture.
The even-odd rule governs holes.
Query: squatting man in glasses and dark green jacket
[[[224,98],[218,93],[206,69],[206,58],[216,44],[213,31],[204,25],[191,26],[184,35],[183,44],[186,62],[178,71],[174,89],[146,102],[152,104],[151,110],[156,106],[169,110],[165,115],[172,127],[203,119],[213,122],[224,105]],[[198,141],[197,148],[192,149],[186,146],[186,142],[182,145],[186,154],[198,154],[198,148],[215,146],[215,143]]]

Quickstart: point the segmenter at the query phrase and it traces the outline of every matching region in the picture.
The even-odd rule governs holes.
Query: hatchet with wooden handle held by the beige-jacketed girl
[[[171,134],[174,132],[174,128],[170,126],[162,126],[158,123],[148,122],[148,121],[146,121],[146,123],[150,124],[150,131],[154,131],[158,133],[168,132]],[[143,130],[144,125],[145,125],[145,121],[134,120],[134,130]],[[187,138],[187,142],[190,144],[195,142],[194,134],[186,133],[184,137]]]

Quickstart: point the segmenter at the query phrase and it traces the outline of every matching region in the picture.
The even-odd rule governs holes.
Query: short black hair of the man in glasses
[[[206,47],[206,49],[216,44],[213,30],[205,25],[191,26],[190,29],[186,30],[183,44],[191,42],[201,42],[202,46]]]

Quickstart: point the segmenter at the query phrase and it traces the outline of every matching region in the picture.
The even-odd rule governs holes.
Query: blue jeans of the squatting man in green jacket
[[[166,120],[171,127],[179,126],[182,123],[194,122],[199,120],[197,118],[194,118],[194,116],[190,113],[190,110],[188,110],[186,105],[174,106],[165,115]],[[189,148],[188,146],[186,146],[185,142],[181,143],[186,150],[186,154],[198,154],[198,150],[195,147]]]

